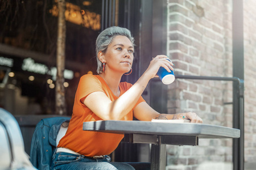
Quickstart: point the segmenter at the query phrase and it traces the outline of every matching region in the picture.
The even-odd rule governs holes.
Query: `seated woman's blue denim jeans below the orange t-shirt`
[[[68,170],[134,170],[134,169],[150,169],[150,163],[119,163],[110,162],[110,157],[89,158],[84,155],[69,154],[66,152],[57,152],[53,154],[52,169],[68,169]]]

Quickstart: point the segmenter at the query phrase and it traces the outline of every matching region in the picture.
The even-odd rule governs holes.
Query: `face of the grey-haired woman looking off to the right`
[[[115,36],[104,54],[106,70],[127,73],[133,65],[133,43],[126,36]]]

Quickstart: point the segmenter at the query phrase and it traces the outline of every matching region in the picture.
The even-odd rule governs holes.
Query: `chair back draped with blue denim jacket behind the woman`
[[[30,160],[38,169],[51,169],[52,155],[65,135],[70,117],[43,118],[37,125],[31,141]]]

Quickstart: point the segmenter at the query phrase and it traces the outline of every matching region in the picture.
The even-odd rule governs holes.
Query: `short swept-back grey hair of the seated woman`
[[[102,31],[100,35],[98,35],[96,40],[96,58],[98,65],[98,74],[101,74],[103,71],[103,63],[100,61],[100,59],[98,59],[98,52],[105,53],[108,49],[109,44],[113,41],[114,37],[118,35],[126,36],[131,41],[133,46],[135,46],[134,37],[131,36],[131,32],[129,29],[113,26],[106,28],[104,31]]]

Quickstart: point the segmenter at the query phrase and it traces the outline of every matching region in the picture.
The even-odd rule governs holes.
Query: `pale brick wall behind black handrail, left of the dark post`
[[[167,4],[167,53],[175,74],[232,76],[232,0]],[[255,41],[251,50],[253,45]],[[205,124],[232,127],[232,105],[226,104],[233,100],[232,88],[232,82],[176,79],[168,86],[168,113],[192,111]],[[200,139],[199,146],[167,146],[167,150],[167,169],[233,169],[232,139]]]

